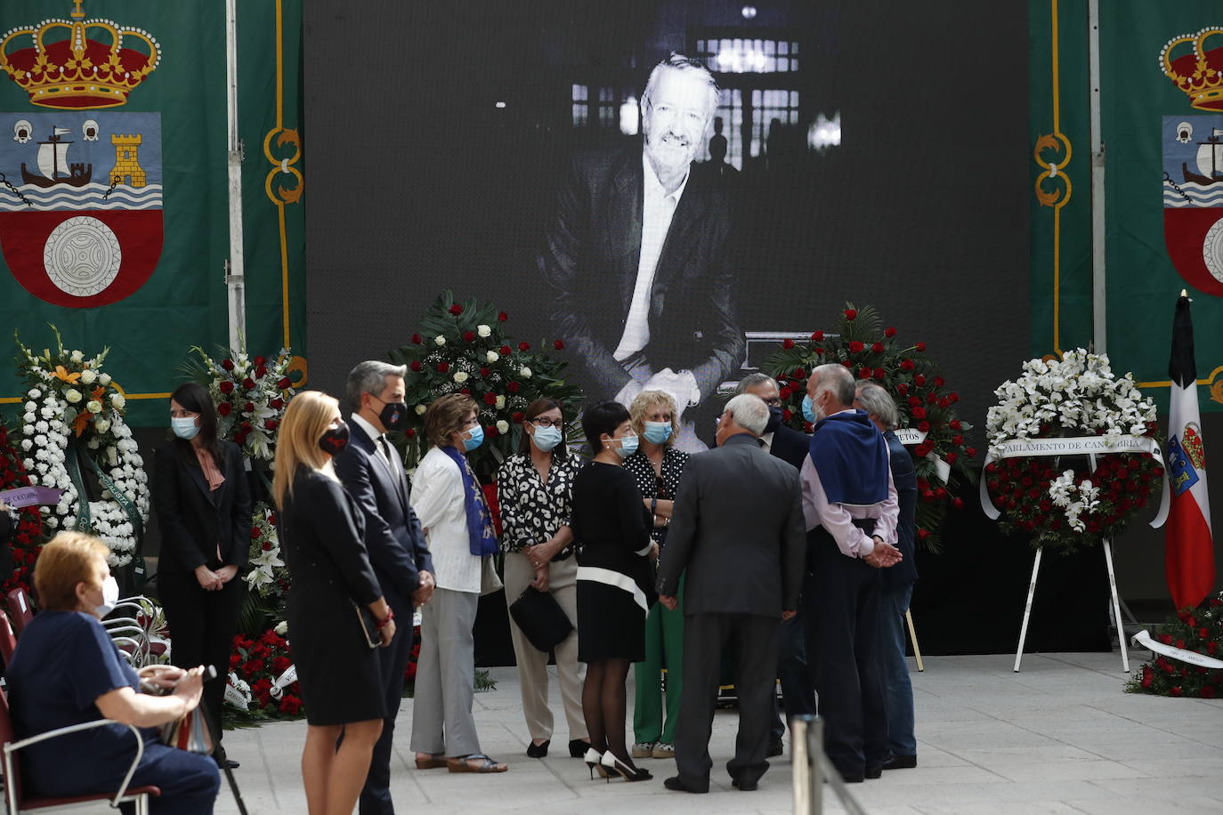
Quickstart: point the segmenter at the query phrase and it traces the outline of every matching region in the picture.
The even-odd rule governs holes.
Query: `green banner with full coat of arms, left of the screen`
[[[238,4],[252,353],[306,345],[301,17]],[[128,423],[164,425],[187,349],[227,345],[225,2],[0,0],[0,325],[110,346]]]

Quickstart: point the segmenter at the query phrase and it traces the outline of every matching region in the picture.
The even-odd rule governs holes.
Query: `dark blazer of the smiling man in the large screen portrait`
[[[587,398],[610,398],[629,381],[613,352],[629,316],[641,259],[642,144],[580,153],[558,196],[537,263],[552,287],[553,330],[565,338]],[[746,341],[735,313],[723,180],[693,164],[658,258],[649,293],[654,370],[691,370],[702,401],[736,378]],[[593,403],[593,402],[592,402]]]

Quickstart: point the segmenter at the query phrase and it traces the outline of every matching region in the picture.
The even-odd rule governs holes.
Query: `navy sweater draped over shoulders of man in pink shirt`
[[[888,442],[862,411],[821,419],[810,450],[829,503],[867,506],[888,497]]]

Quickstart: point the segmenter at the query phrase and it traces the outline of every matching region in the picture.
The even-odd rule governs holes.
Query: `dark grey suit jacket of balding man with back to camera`
[[[806,552],[799,470],[751,434],[689,458],[675,497],[658,594],[674,596],[687,569],[684,613],[780,619],[799,607]]]

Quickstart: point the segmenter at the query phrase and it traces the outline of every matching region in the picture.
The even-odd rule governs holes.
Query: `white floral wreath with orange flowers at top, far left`
[[[29,390],[21,417],[22,463],[33,485],[62,490],[60,501],[43,507],[43,523],[57,529],[92,532],[110,547],[110,566],[132,562],[149,516],[148,475],[132,431],[124,422],[122,391],[103,373],[109,353],[87,358],[65,351],[55,332],[55,352],[42,356],[17,340],[18,363]],[[102,497],[88,500],[84,469],[99,481]]]

